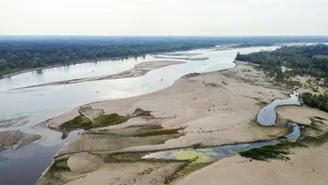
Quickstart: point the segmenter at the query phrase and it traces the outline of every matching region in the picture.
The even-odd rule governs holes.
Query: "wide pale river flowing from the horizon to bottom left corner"
[[[55,67],[1,79],[0,120],[20,119],[17,119],[17,123],[11,127],[0,127],[0,131],[19,129],[25,133],[39,134],[42,139],[22,148],[0,153],[0,182],[11,185],[34,184],[41,173],[50,165],[52,157],[78,133],[77,131],[72,132],[68,138],[62,140],[59,132],[43,127],[34,127],[47,119],[91,102],[155,92],[171,86],[175,80],[188,73],[203,73],[231,68],[235,65],[232,61],[237,52],[246,54],[277,48],[276,46],[250,47],[225,51],[211,48],[187,51],[202,53],[194,57],[207,57],[209,60],[174,59],[174,61],[184,61],[185,63],[156,69],[137,78],[17,89],[62,80],[109,75],[131,69],[141,62],[158,62],[170,59],[146,55],[124,60]],[[177,57],[174,56],[174,58]]]

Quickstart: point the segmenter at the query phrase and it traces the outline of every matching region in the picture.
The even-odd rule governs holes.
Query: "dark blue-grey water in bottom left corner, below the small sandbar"
[[[49,129],[47,132],[52,132]],[[46,131],[48,130],[48,131]],[[36,141],[28,147],[0,153],[0,182],[1,184],[24,184],[33,185],[42,172],[51,164],[51,158],[65,143],[76,137],[78,131],[70,133],[65,140],[53,138],[58,143],[48,145],[46,139]],[[53,133],[50,133],[53,135]],[[59,134],[61,135],[61,134]]]

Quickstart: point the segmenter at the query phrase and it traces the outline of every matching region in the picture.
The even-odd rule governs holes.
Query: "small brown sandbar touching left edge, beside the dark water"
[[[0,152],[13,146],[17,146],[17,148],[23,147],[38,139],[41,139],[41,136],[25,134],[18,130],[0,132]]]

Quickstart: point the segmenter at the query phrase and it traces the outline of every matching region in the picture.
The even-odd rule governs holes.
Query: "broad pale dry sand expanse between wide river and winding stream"
[[[263,73],[240,63],[227,71],[182,78],[173,86],[152,94],[86,106],[120,115],[132,114],[136,108],[150,110],[155,117],[166,118],[155,120],[164,128],[184,128],[185,135],[167,141],[166,147],[212,146],[272,139],[283,134],[281,129],[250,123],[260,109],[260,101],[287,98],[286,93],[267,83]],[[58,127],[64,121],[72,120],[78,111],[79,108],[51,119],[49,126]],[[131,119],[111,129],[149,122]]]

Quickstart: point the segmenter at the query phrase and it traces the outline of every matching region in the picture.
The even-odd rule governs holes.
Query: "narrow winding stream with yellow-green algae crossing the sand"
[[[298,96],[299,94],[297,92],[293,92],[293,94],[290,95],[289,99],[276,99],[270,104],[260,109],[256,119],[258,124],[260,124],[261,126],[276,125],[275,122],[276,122],[277,114],[275,108],[278,106],[285,106],[285,105],[301,105]],[[287,123],[286,126],[292,128],[292,132],[285,136],[286,140],[290,142],[295,142],[301,136],[300,128],[295,123]],[[266,145],[275,145],[277,143],[279,143],[279,140],[225,145],[225,146],[208,147],[208,148],[183,148],[183,149],[155,152],[143,156],[142,158],[184,160],[184,159],[194,159],[196,157],[197,162],[212,162],[236,155],[239,152],[246,151],[251,148],[259,148]]]

